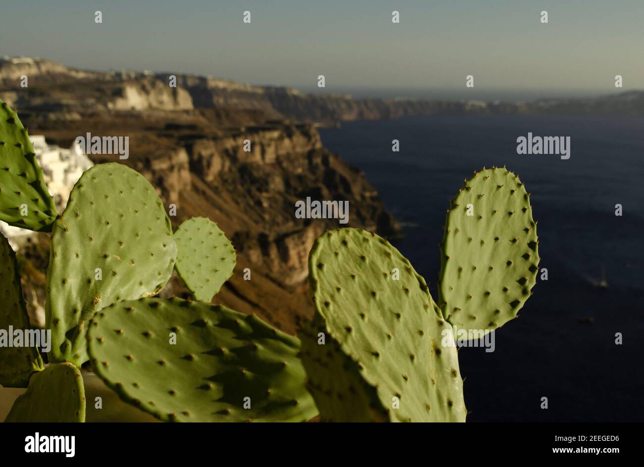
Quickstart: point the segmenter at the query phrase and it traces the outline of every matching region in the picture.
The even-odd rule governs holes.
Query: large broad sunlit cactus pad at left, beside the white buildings
[[[84,334],[94,313],[155,295],[175,259],[170,220],[144,176],[119,163],[87,170],[53,227],[45,307],[50,361],[86,362]]]

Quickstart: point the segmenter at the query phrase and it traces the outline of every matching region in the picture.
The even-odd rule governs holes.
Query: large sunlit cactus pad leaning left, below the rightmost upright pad
[[[457,349],[442,345],[444,339],[453,343],[451,327],[431,299],[425,280],[398,250],[364,230],[330,230],[314,243],[308,271],[318,322],[357,365],[362,379],[375,388],[388,419],[465,420]],[[334,352],[333,344],[328,351]],[[308,358],[303,354],[305,361]],[[309,362],[305,365],[312,368]],[[332,387],[336,373],[310,378]],[[342,383],[336,390],[327,387],[324,397],[346,398],[338,388],[343,389]],[[394,408],[394,398],[399,408]],[[316,403],[324,419],[343,421],[352,410],[325,413],[322,409],[334,404],[320,398]],[[354,410],[367,414],[374,408],[379,412],[377,406]]]

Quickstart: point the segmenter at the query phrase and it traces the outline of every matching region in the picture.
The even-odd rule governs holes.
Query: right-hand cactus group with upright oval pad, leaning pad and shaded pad
[[[529,194],[505,168],[475,173],[450,207],[440,307],[410,262],[377,235],[344,228],[314,243],[316,315],[300,335],[322,419],[465,420],[454,335],[480,338],[516,317],[535,285],[538,238]]]

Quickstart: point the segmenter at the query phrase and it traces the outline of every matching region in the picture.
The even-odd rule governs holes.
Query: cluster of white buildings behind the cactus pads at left
[[[44,181],[56,203],[56,208],[61,213],[67,205],[71,188],[75,185],[82,172],[89,169],[91,163],[88,156],[83,154],[77,143],[70,149],[48,145],[44,136],[30,136],[33,143],[33,152],[43,169]],[[0,232],[9,240],[12,248],[17,250],[27,237],[33,235],[31,230],[14,227],[0,221]]]

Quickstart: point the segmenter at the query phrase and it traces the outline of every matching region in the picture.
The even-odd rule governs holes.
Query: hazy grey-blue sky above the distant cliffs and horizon
[[[0,12],[0,55],[79,68],[305,89],[325,75],[327,92],[465,92],[470,74],[477,91],[612,93],[618,74],[644,88],[644,0],[22,0]]]

